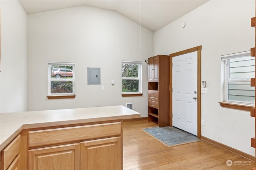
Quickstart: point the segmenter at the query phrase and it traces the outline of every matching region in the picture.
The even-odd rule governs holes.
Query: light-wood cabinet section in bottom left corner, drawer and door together
[[[19,170],[20,168],[20,140],[18,135],[1,152],[1,170]]]

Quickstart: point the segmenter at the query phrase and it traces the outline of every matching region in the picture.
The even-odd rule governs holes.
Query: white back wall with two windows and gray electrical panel
[[[126,105],[147,117],[153,33],[117,12],[80,6],[28,15],[28,110]],[[143,96],[121,96],[121,61],[142,61]],[[76,63],[74,99],[47,99],[47,64]],[[101,85],[87,85],[87,67],[101,68]],[[111,86],[114,80],[114,86]],[[104,86],[105,90],[101,90]]]

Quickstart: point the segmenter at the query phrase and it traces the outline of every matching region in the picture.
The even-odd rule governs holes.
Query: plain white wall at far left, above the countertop
[[[27,110],[27,14],[18,0],[1,1],[0,112]]]

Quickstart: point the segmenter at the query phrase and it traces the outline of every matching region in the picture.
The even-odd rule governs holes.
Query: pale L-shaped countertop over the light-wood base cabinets
[[[10,143],[22,129],[136,117],[140,117],[140,113],[124,106],[0,113],[0,150]]]

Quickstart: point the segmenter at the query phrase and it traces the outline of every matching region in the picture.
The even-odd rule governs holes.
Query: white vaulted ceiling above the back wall
[[[155,32],[209,0],[19,0],[27,14],[92,6],[116,11]]]

